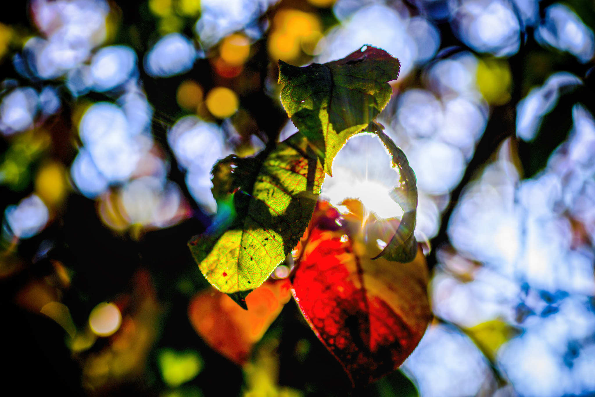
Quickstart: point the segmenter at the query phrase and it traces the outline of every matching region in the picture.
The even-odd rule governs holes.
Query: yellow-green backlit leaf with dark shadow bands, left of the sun
[[[190,240],[190,251],[208,282],[238,302],[299,242],[324,171],[297,133],[255,158],[227,157],[212,174],[217,215],[205,233]]]

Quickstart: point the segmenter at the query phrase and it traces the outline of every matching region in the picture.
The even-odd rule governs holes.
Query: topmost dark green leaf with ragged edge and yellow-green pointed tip
[[[389,103],[399,60],[364,45],[342,60],[297,67],[279,61],[281,102],[331,174],[347,139],[361,132]]]

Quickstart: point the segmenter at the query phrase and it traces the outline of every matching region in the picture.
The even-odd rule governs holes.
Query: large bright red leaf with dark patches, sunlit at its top
[[[421,249],[407,264],[371,260],[381,251],[377,239],[389,240],[398,223],[366,217],[359,202],[346,204],[354,213],[344,219],[327,203],[318,206],[292,292],[355,387],[396,370],[424,335],[431,311]]]

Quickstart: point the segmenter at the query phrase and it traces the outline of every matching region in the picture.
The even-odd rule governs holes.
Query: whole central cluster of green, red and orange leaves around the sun
[[[374,121],[399,68],[396,58],[369,45],[326,64],[280,61],[281,102],[299,132],[255,157],[231,155],[215,164],[219,210],[189,246],[217,290],[195,296],[189,317],[237,364],[245,364],[289,299],[289,282],[265,280],[290,255],[291,290],[303,317],[353,387],[396,370],[424,335],[431,312],[427,265],[414,236],[415,173]],[[380,138],[399,172],[390,194],[403,208],[401,220],[377,220],[359,201],[347,201],[343,215],[317,202],[337,152],[362,132]]]

